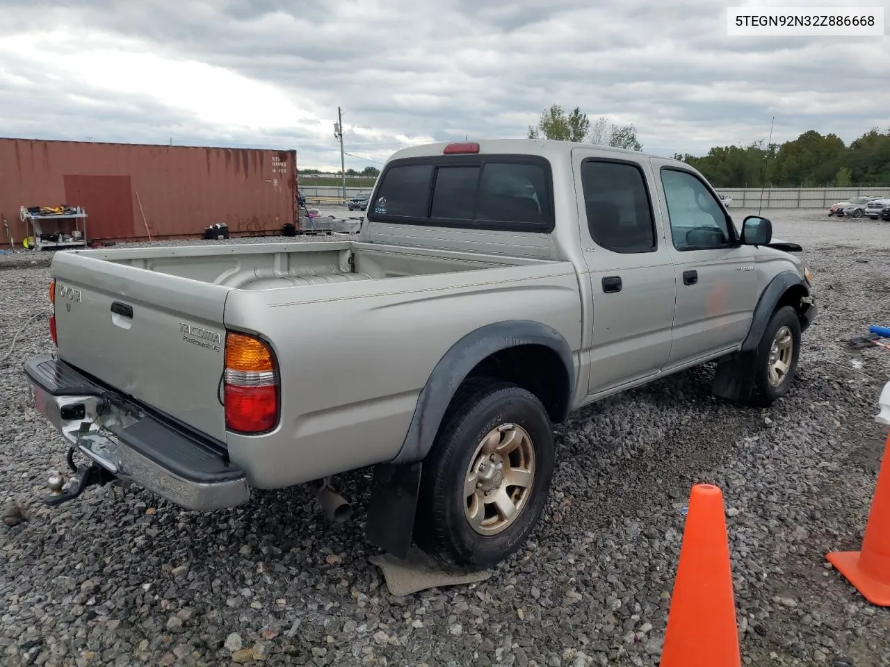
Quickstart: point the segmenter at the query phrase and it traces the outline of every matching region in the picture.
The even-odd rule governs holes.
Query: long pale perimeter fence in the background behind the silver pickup
[[[369,188],[346,188],[349,197]],[[300,191],[309,200],[342,199],[342,189],[315,187],[301,181]],[[890,197],[890,186],[885,188],[717,188],[721,195],[732,197],[733,207],[757,208],[825,208],[857,195]]]

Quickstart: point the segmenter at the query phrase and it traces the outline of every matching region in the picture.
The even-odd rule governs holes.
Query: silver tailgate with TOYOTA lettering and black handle
[[[225,440],[229,288],[70,252],[53,257],[53,277],[61,360]]]

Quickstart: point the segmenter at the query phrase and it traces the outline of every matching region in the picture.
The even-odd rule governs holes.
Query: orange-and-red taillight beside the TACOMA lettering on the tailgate
[[[244,333],[226,333],[223,403],[226,429],[256,434],[279,421],[279,374],[263,341]]]

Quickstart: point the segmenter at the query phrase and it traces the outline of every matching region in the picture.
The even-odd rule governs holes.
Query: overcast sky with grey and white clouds
[[[553,103],[633,123],[661,155],[765,140],[773,116],[774,141],[890,127],[890,29],[727,36],[726,4],[0,0],[0,134],[297,149],[303,168],[339,167],[339,105],[360,169],[411,143],[522,137]]]

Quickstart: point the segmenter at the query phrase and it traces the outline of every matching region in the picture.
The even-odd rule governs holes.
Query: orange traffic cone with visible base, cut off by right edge
[[[862,551],[832,551],[826,558],[871,604],[890,607],[890,436],[871,500]]]

